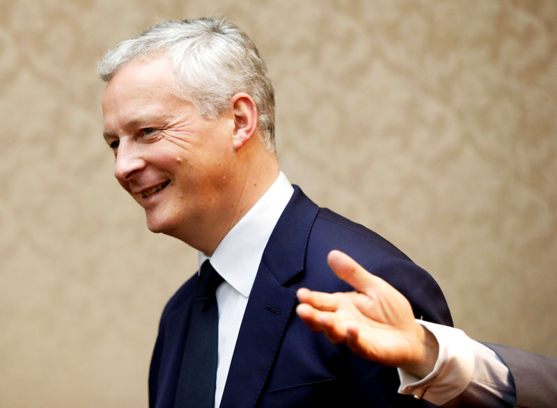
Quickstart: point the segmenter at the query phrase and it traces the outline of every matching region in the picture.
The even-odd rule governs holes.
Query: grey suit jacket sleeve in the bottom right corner
[[[517,407],[555,407],[557,359],[505,345],[489,344],[508,366],[517,390]]]

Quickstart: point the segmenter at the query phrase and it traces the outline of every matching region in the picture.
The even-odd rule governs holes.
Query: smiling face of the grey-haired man
[[[168,60],[132,60],[107,84],[102,111],[116,179],[143,206],[151,231],[184,239],[233,204],[235,124],[230,112],[203,118],[173,95],[173,81]]]

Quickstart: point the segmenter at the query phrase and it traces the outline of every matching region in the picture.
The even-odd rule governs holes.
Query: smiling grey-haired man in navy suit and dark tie
[[[302,286],[350,290],[327,267],[338,247],[404,293],[416,316],[452,324],[427,272],[279,171],[274,91],[246,34],[220,18],[166,22],[118,44],[98,71],[116,179],[151,231],[199,251],[200,271],[162,313],[150,406],[427,405],[396,393],[396,370],[295,315]]]

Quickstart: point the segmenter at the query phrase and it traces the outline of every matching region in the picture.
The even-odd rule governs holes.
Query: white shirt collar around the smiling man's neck
[[[210,257],[219,275],[244,297],[249,297],[267,241],[292,193],[294,188],[280,172],[269,190],[228,231]],[[199,252],[199,266],[208,258]]]

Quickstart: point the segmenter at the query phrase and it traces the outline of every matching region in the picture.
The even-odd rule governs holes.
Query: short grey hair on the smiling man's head
[[[258,131],[274,152],[274,89],[257,47],[223,17],[164,22],[107,52],[97,74],[108,82],[130,60],[162,54],[174,66],[176,96],[191,101],[205,118],[230,107],[230,98],[246,92],[256,102]]]

